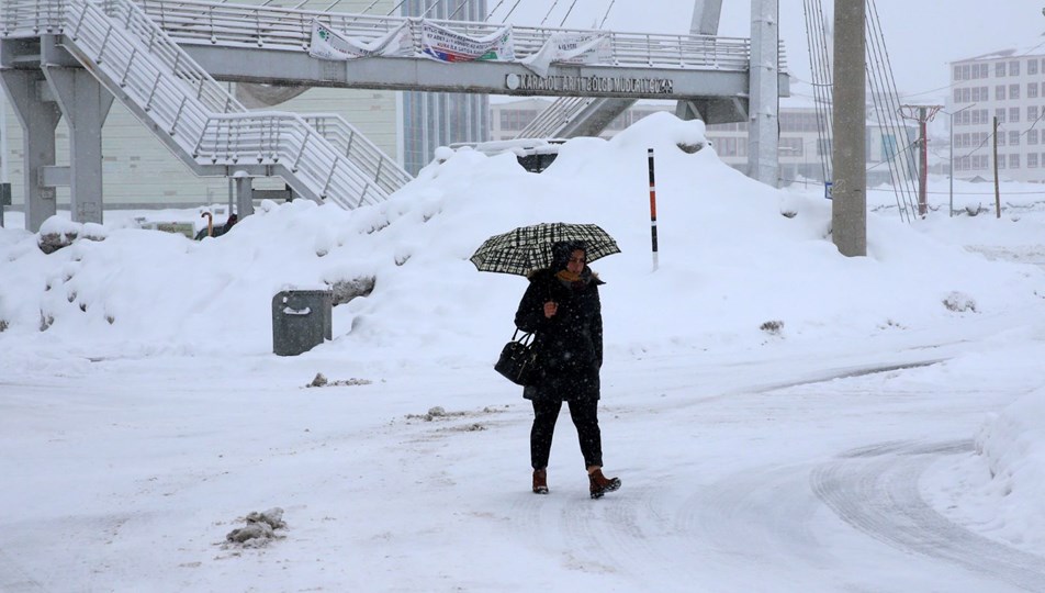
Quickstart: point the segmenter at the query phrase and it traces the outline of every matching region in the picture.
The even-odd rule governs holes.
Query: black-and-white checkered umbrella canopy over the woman
[[[494,235],[470,259],[479,271],[526,276],[551,266],[551,246],[561,242],[584,243],[588,262],[620,253],[617,242],[598,225],[542,223]]]

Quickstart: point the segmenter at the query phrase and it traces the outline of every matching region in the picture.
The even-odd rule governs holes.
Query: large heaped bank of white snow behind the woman
[[[593,264],[607,281],[609,348],[844,339],[1037,299],[1041,275],[937,244],[892,216],[869,216],[868,257],[842,257],[830,202],[754,182],[711,147],[692,152],[705,144],[701,122],[660,113],[609,142],[568,142],[541,175],[512,154],[443,153],[381,205],[266,202],[201,243],[117,226],[45,255],[40,237],[4,231],[0,339],[88,355],[263,354],[278,291],[372,283],[335,307],[324,348],[486,360],[510,335],[525,280],[479,273],[468,258],[490,235],[549,221],[596,223],[620,244],[622,254]],[[648,148],[658,171],[655,272]],[[70,224],[61,231],[77,231]],[[975,312],[946,306],[952,294]]]

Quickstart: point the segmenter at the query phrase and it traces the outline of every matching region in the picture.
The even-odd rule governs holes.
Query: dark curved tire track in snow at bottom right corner
[[[1045,559],[966,530],[926,504],[919,477],[970,441],[886,443],[853,449],[817,468],[813,492],[861,532],[895,548],[954,562],[1026,591],[1045,591]]]

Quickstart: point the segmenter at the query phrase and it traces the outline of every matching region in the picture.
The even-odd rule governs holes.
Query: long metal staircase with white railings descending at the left
[[[279,176],[300,195],[374,204],[411,177],[348,122],[250,112],[130,0],[9,0],[4,37],[65,49],[201,176]]]

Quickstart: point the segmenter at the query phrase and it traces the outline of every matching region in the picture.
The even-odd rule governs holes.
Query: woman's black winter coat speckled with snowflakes
[[[599,398],[598,370],[603,366],[603,313],[598,284],[591,270],[589,281],[580,289],[564,284],[551,269],[538,270],[522,295],[515,325],[533,332],[537,348],[537,379],[522,391],[528,400],[573,401]],[[559,309],[544,316],[544,303]]]

